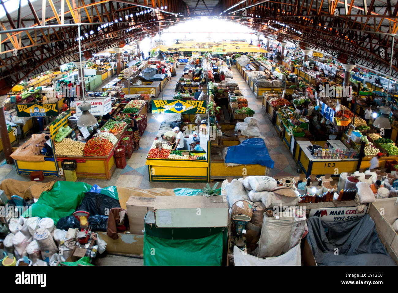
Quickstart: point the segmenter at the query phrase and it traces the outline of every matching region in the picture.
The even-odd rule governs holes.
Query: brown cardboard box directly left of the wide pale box
[[[131,234],[144,235],[144,218],[147,210],[153,211],[155,199],[131,196],[126,203]]]

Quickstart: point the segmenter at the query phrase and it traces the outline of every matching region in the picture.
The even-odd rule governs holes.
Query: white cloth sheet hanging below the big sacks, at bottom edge
[[[243,254],[237,246],[234,246],[235,265],[301,265],[300,244],[281,256],[271,258],[257,258],[250,254]]]

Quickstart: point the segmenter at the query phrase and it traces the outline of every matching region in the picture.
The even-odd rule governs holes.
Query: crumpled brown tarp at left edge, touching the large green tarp
[[[55,181],[47,183],[35,181],[19,181],[15,179],[4,179],[0,184],[0,189],[4,190],[8,199],[12,195],[19,195],[25,200],[38,199],[42,192],[49,191],[53,188]]]

